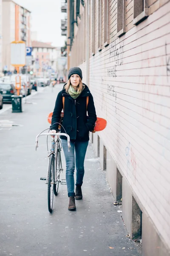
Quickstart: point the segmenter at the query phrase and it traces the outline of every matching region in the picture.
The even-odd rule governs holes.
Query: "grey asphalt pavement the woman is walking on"
[[[66,186],[60,185],[48,212],[47,185],[40,180],[48,164],[46,139],[40,138],[36,152],[35,137],[49,127],[61,88],[36,93],[23,103],[23,113],[0,113],[0,122],[8,124],[0,129],[0,256],[139,256],[91,143],[77,211],[68,211]]]

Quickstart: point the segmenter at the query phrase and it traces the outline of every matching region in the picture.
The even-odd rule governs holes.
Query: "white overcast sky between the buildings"
[[[14,0],[31,11],[31,31],[37,31],[37,40],[52,42],[53,46],[64,46],[65,37],[61,36],[61,0]]]

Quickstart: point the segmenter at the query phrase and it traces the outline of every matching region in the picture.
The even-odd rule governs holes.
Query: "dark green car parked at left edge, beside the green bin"
[[[0,82],[0,90],[2,91],[3,102],[11,103],[11,96],[17,95],[17,90],[15,89],[14,84]]]

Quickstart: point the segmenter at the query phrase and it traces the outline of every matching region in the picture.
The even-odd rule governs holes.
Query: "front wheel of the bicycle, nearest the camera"
[[[54,155],[50,155],[48,164],[48,211],[52,212],[54,197]]]

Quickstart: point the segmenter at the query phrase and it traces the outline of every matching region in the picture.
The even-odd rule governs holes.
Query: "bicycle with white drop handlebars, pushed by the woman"
[[[48,184],[48,211],[52,212],[53,208],[53,198],[54,195],[57,195],[59,183],[66,184],[66,181],[64,179],[59,179],[59,175],[61,172],[63,172],[62,169],[62,160],[61,160],[61,149],[62,144],[59,139],[59,137],[65,136],[67,137],[67,143],[68,143],[68,151],[71,147],[70,145],[70,137],[68,134],[65,133],[40,133],[36,137],[36,146],[35,150],[37,151],[38,148],[38,138],[40,136],[54,136],[51,140],[51,151],[48,152],[48,171],[47,171],[47,177],[41,177],[40,180],[46,180],[46,184]],[[57,138],[55,139],[55,136]]]

